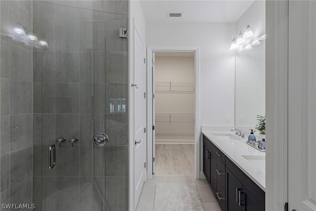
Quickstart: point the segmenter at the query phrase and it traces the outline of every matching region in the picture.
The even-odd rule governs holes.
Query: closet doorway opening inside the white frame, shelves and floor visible
[[[155,52],[156,175],[194,175],[194,52]]]

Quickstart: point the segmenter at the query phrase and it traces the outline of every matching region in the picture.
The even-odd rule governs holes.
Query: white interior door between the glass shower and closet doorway
[[[137,30],[134,30],[134,196],[135,208],[137,206],[143,184],[146,180],[146,66],[145,44]]]

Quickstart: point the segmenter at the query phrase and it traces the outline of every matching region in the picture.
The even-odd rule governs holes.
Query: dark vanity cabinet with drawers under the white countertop
[[[222,211],[265,210],[265,192],[204,135],[203,172]]]

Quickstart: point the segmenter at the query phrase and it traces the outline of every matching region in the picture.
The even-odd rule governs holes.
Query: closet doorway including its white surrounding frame
[[[148,49],[148,178],[194,175],[199,178],[197,129],[198,48]],[[151,158],[153,159],[151,162]],[[151,166],[150,166],[151,164]]]

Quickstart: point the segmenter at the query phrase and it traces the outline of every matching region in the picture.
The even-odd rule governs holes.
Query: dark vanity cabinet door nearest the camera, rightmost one
[[[264,207],[260,205],[258,200],[253,196],[244,186],[240,191],[242,211],[265,211]]]

